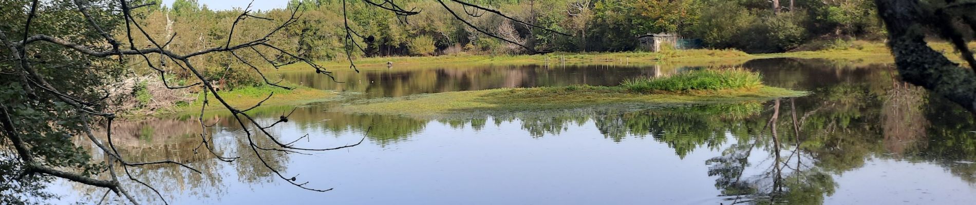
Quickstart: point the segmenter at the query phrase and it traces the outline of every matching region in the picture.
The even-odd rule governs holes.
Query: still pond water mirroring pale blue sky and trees
[[[584,108],[460,119],[330,112],[302,106],[271,130],[297,145],[356,147],[309,154],[263,152],[264,168],[237,122],[220,115],[204,131],[195,117],[119,122],[116,145],[131,169],[170,204],[973,204],[976,121],[887,64],[756,59],[740,66],[766,85],[809,96],[650,110]],[[697,67],[626,65],[444,65],[282,78],[354,98],[508,86],[617,85]],[[268,107],[273,122],[291,107]],[[367,130],[369,130],[367,132]],[[259,145],[272,145],[258,141]],[[64,201],[92,202],[103,189],[61,183]],[[147,204],[159,197],[127,183]],[[110,196],[114,199],[114,196]]]

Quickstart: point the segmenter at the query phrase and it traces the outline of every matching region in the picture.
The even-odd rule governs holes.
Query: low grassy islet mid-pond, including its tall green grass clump
[[[350,113],[432,117],[482,112],[523,112],[591,106],[669,106],[765,100],[806,92],[761,85],[758,74],[730,69],[695,71],[662,79],[638,79],[618,86],[569,85],[496,88],[361,100],[339,110]]]

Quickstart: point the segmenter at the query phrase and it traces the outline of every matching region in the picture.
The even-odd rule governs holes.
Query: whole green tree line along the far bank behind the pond
[[[356,56],[528,53],[516,45],[490,38],[446,10],[437,1],[400,1],[416,16],[397,17],[370,1],[293,0],[288,8],[261,11],[268,17],[287,15],[302,3],[300,22],[275,41],[295,43],[308,58],[345,59]],[[634,51],[637,37],[655,33],[702,39],[713,49],[750,52],[791,51],[813,41],[883,38],[884,31],[870,0],[489,0],[471,1],[491,11],[449,5],[470,23],[489,33],[523,43],[538,51]],[[776,5],[776,6],[774,6]],[[344,15],[344,9],[346,14]],[[150,24],[172,23],[169,33],[184,41],[218,42],[219,34],[239,11],[215,11],[196,0],[177,0],[150,11]],[[473,14],[474,17],[468,16]],[[344,16],[365,52],[348,53]],[[538,26],[533,26],[538,25]],[[182,26],[182,28],[180,28]],[[248,25],[260,26],[260,25]],[[151,26],[150,26],[151,27]],[[157,26],[165,27],[165,26]],[[555,31],[555,32],[549,32]],[[163,31],[159,31],[163,32]],[[569,35],[560,35],[569,34]],[[167,36],[167,33],[155,33]],[[181,38],[177,38],[181,39]],[[181,44],[174,44],[181,45]],[[183,44],[184,45],[184,44]],[[817,48],[814,48],[817,49]]]

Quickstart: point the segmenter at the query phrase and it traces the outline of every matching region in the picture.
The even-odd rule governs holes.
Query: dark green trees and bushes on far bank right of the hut
[[[803,10],[778,15],[769,12],[768,5],[752,1],[706,2],[702,10],[709,12],[702,14],[690,33],[712,48],[778,52],[810,43],[815,36],[833,40],[884,35],[873,1],[796,1]]]

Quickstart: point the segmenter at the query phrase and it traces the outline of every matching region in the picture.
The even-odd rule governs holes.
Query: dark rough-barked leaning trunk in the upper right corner
[[[976,113],[976,75],[925,43],[922,31],[932,14],[917,0],[874,0],[888,30],[888,47],[902,80],[919,85]],[[938,23],[938,22],[937,22]]]

